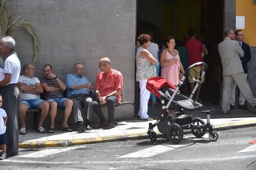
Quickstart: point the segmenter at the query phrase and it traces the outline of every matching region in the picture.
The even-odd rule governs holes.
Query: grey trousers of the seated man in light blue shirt
[[[86,122],[88,119],[91,120],[92,115],[92,97],[88,94],[77,94],[70,98],[73,101],[73,122]],[[81,109],[84,108],[86,120],[82,118]]]

